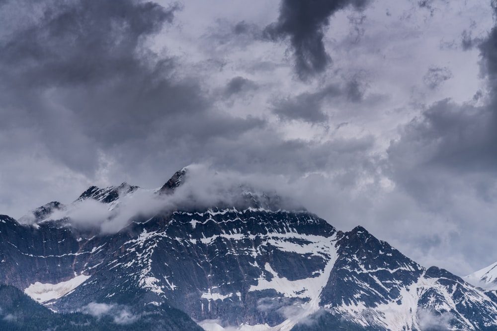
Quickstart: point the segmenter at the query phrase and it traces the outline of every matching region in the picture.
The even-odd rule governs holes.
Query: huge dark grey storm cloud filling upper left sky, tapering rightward
[[[9,26],[12,33],[0,36],[0,128],[12,136],[12,128],[32,132],[27,137],[33,143],[24,147],[36,141],[52,158],[91,176],[98,150],[132,167],[147,152],[177,140],[234,139],[264,126],[258,119],[212,111],[201,79],[188,77],[179,59],[149,50],[149,38],[172,22],[177,4],[73,0],[36,5],[39,16]],[[248,88],[254,84],[240,78],[228,86],[231,93]],[[139,150],[131,152],[132,146]]]

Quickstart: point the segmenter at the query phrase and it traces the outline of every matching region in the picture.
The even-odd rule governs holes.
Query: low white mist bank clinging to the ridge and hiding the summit
[[[276,191],[277,187],[281,190]],[[77,228],[97,228],[102,233],[115,233],[138,217],[152,217],[176,209],[257,207],[253,204],[253,199],[262,208],[303,209],[286,194],[289,190],[283,177],[246,175],[234,171],[218,172],[207,165],[194,164],[187,167],[182,184],[175,188],[173,194],[159,194],[154,189],[138,189],[130,195],[120,197],[118,203],[106,204],[94,199],[77,200],[55,210],[49,219],[69,218],[70,223]],[[279,195],[280,191],[283,195]],[[24,218],[24,221],[27,220]]]

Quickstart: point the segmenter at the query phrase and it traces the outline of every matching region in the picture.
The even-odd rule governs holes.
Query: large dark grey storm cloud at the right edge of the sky
[[[493,181],[485,175],[497,173],[497,27],[480,50],[482,74],[488,79],[486,103],[439,101],[403,127],[401,138],[388,149],[394,178],[421,201],[440,206],[451,199],[458,181],[489,197],[486,190]],[[428,75],[428,85],[436,86],[448,76],[439,69]],[[477,91],[475,98],[482,98],[482,92]]]

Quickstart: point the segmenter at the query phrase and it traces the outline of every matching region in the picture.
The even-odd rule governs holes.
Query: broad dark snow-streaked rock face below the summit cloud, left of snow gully
[[[227,325],[260,321],[276,325],[284,320],[276,308],[303,301],[305,295],[287,298],[271,287],[251,287],[259,279],[275,278],[274,274],[288,281],[312,278],[330,258],[326,249],[332,248],[334,233],[331,225],[308,213],[227,210],[158,216],[120,233],[120,240],[109,246],[109,258],[57,307],[70,309],[74,297],[79,303],[93,301],[102,286],[105,295],[114,297],[140,284],[152,292],[151,300],[167,298],[195,320],[223,316]],[[315,242],[302,236],[311,236]],[[314,245],[319,243],[316,238],[329,245],[322,247],[322,256],[285,249]],[[273,306],[278,302],[277,307],[261,311],[264,300]]]

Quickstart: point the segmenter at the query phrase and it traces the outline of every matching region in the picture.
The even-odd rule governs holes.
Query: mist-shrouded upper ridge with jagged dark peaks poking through
[[[283,195],[279,195],[276,187]],[[294,190],[281,178],[215,171],[206,165],[193,164],[176,172],[160,189],[141,189],[125,183],[105,189],[92,186],[68,205],[52,202],[19,221],[31,224],[63,220],[82,230],[116,233],[133,220],[173,210],[304,210],[293,199]]]

